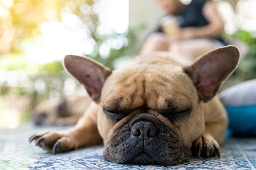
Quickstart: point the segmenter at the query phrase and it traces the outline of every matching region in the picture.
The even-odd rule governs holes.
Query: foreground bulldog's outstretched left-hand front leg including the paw
[[[50,150],[54,154],[74,150],[81,146],[102,144],[102,138],[97,129],[98,107],[92,102],[73,128],[58,132],[39,132],[30,137],[29,141],[35,141],[36,146]]]

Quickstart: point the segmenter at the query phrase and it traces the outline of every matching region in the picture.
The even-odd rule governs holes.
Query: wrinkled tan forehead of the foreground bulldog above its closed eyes
[[[138,68],[114,72],[103,87],[102,102],[114,108],[160,109],[191,103],[192,93],[196,91],[191,79],[179,67]]]

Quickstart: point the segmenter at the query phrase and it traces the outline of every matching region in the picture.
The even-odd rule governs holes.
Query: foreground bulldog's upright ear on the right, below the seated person
[[[236,46],[225,46],[200,56],[183,70],[191,77],[204,102],[216,95],[225,80],[234,72],[240,52]]]

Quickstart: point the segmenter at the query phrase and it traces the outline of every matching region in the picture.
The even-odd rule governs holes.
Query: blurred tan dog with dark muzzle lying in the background
[[[33,122],[36,126],[75,125],[91,101],[87,95],[67,97],[60,102],[45,100],[33,109]]]

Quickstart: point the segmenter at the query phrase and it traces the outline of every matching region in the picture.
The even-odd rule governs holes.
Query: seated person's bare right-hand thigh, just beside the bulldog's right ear
[[[220,47],[215,41],[207,38],[179,40],[170,44],[169,51],[193,61],[200,55]]]

